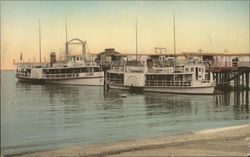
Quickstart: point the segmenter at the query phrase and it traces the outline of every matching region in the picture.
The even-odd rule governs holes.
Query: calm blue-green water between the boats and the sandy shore
[[[130,94],[28,84],[2,71],[1,150],[17,154],[249,123],[249,93]]]

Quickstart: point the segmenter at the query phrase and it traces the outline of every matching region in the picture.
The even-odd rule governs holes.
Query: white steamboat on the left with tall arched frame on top
[[[70,44],[82,46],[81,55],[70,55]],[[60,83],[74,85],[103,85],[103,71],[100,66],[86,57],[86,42],[72,39],[66,42],[65,59],[56,60],[56,53],[50,54],[50,63],[21,62],[17,65],[16,77],[21,81],[37,83]]]

